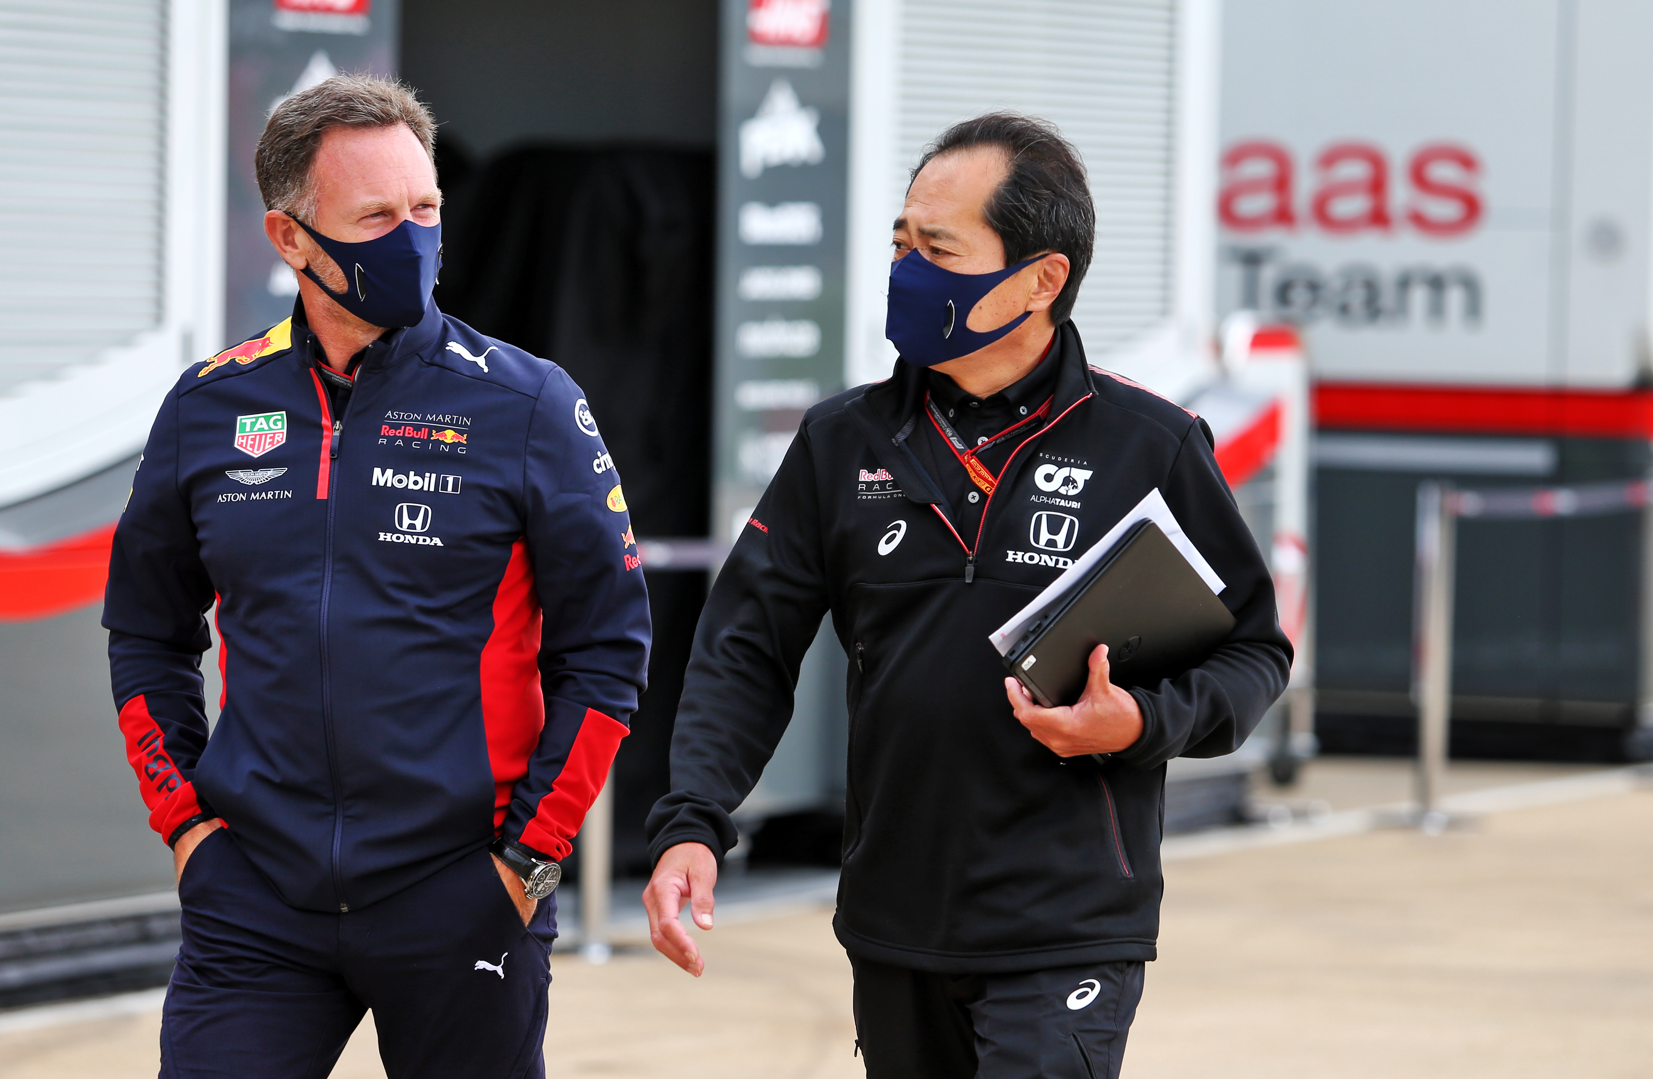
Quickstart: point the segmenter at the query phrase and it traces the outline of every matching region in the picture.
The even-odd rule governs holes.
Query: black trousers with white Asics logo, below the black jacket
[[[1117,1079],[1142,963],[942,975],[850,957],[868,1079]]]

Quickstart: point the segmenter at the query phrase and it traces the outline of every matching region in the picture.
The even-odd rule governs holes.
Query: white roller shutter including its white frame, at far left
[[[0,507],[223,347],[226,0],[0,0]]]

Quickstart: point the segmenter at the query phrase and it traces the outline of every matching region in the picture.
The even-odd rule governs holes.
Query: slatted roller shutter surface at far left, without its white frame
[[[164,0],[0,0],[0,393],[160,326]]]

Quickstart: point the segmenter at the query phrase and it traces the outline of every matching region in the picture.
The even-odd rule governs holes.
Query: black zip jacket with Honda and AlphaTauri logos
[[[845,948],[936,972],[1154,958],[1165,762],[1233,752],[1284,689],[1291,644],[1205,423],[1088,367],[1071,324],[1053,352],[1050,408],[993,454],[1003,471],[972,506],[979,527],[957,527],[952,484],[912,453],[931,423],[926,372],[896,364],[805,415],[701,615],[673,791],[648,820],[656,859],[684,841],[719,858],[734,846],[729,813],[780,740],[830,611],[850,656]],[[1144,722],[1131,749],[1061,760],[1012,714],[987,635],[1154,487],[1223,578],[1235,630],[1198,668],[1131,689]],[[1066,552],[1051,537],[1071,525],[1036,514],[1078,519]]]

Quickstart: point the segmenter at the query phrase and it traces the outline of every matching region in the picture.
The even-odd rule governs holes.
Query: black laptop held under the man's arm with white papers
[[[1157,686],[1200,666],[1235,628],[1159,525],[1139,520],[1038,618],[1005,666],[1045,707],[1073,704],[1086,666],[1108,644],[1116,686]]]

